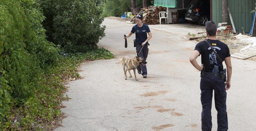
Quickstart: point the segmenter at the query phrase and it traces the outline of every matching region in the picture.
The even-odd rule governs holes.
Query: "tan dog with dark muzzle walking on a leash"
[[[125,72],[125,79],[127,80],[126,72],[127,71],[129,72],[130,78],[131,78],[132,77],[131,70],[133,70],[135,80],[138,81],[138,79],[136,77],[137,66],[139,66],[140,64],[145,65],[145,64],[147,64],[147,62],[142,57],[136,56],[134,58],[131,58],[131,57],[125,56],[122,59],[122,64],[123,64],[123,69]]]

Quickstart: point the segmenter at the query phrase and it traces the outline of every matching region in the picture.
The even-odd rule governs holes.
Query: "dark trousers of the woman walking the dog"
[[[147,54],[149,54],[149,49],[147,48],[147,44],[145,44],[142,48],[142,45],[137,44],[136,45],[136,52],[138,54],[138,52],[140,52],[140,54],[138,54],[140,57],[142,57],[145,61],[147,60]],[[140,51],[140,49],[142,48],[142,50]],[[142,71],[142,75],[147,75],[147,67],[146,66],[137,66],[138,71]]]

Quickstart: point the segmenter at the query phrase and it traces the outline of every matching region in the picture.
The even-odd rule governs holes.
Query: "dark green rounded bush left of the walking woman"
[[[49,40],[65,52],[97,49],[105,36],[99,0],[40,0]]]

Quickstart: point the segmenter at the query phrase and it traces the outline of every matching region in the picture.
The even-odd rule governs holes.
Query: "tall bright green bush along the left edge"
[[[0,1],[0,122],[10,119],[13,105],[34,95],[43,68],[57,60],[57,48],[45,39],[43,18],[34,0]]]

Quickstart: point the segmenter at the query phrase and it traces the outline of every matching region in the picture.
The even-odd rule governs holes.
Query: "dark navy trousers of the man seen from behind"
[[[202,103],[202,131],[211,131],[211,105],[214,90],[215,108],[218,112],[217,123],[218,131],[228,130],[228,116],[225,90],[225,82],[220,77],[203,76],[200,82],[201,103]]]

